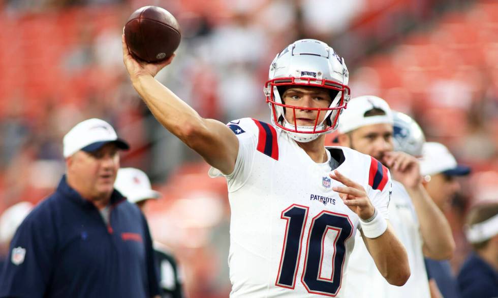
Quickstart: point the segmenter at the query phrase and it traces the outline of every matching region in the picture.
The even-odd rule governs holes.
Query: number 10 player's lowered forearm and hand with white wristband
[[[358,214],[362,230],[369,230],[369,235],[362,232],[362,237],[377,269],[387,282],[402,286],[410,278],[410,265],[407,251],[393,233],[393,229],[386,222],[387,220],[376,212],[365,189],[360,184],[347,178],[337,170],[331,173],[330,177],[345,185],[344,187],[334,187],[333,190],[339,193],[339,197],[345,205]],[[379,229],[379,226],[382,225],[384,228]],[[378,235],[372,236],[372,234]]]

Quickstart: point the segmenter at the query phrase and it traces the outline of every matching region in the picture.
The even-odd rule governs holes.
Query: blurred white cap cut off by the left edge
[[[33,210],[33,204],[19,202],[7,208],[0,216],[0,243],[9,242],[22,221]]]

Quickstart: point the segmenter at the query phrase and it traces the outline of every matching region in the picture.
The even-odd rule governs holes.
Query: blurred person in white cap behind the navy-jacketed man
[[[160,192],[152,189],[147,174],[136,168],[120,168],[117,171],[114,188],[128,201],[137,204],[142,211],[148,200],[157,200],[162,197]],[[178,263],[171,251],[164,244],[154,241],[154,257],[162,290],[161,297],[183,297],[183,281]]]

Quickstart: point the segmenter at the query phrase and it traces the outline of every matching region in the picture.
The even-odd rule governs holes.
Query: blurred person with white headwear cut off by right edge
[[[466,236],[474,252],[458,274],[461,296],[498,297],[498,200],[474,206],[466,224]]]

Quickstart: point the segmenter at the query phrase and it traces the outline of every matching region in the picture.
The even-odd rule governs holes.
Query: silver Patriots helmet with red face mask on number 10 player
[[[341,110],[346,107],[351,95],[347,86],[349,72],[344,59],[339,57],[327,44],[317,40],[299,40],[277,54],[270,65],[268,81],[264,92],[271,109],[271,121],[299,142],[309,142],[319,135],[330,133],[337,128]],[[332,102],[327,108],[303,108],[285,104],[279,86],[310,86],[335,90],[331,93]],[[314,126],[298,126],[296,121],[288,123],[286,111],[296,109],[318,110],[326,113],[325,119]]]

